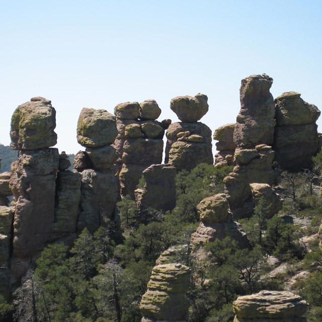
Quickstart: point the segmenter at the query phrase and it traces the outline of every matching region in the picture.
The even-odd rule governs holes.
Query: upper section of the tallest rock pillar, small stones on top
[[[273,78],[251,75],[241,80],[240,111],[233,140],[236,146],[273,143],[275,104],[270,88]]]

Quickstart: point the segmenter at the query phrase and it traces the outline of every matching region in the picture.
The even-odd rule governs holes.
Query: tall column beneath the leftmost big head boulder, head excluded
[[[33,256],[50,239],[58,165],[55,148],[19,152],[10,178],[17,200],[13,240],[13,253],[17,257]]]

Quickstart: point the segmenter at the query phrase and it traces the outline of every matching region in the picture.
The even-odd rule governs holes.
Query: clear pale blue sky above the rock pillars
[[[212,130],[235,122],[240,80],[266,72],[322,110],[322,1],[0,0],[0,142],[15,108],[43,96],[56,109],[60,151],[76,141],[83,107],[113,113],[203,93]],[[322,132],[322,117],[318,120]]]

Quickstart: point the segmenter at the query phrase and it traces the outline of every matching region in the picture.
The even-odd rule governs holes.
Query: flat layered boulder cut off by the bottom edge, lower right
[[[261,291],[232,303],[234,322],[306,322],[308,304],[291,292]]]

